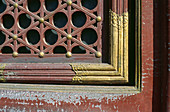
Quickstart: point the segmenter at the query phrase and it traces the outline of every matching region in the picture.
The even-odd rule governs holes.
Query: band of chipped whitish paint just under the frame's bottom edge
[[[66,103],[71,103],[76,105],[81,105],[81,99],[87,99],[87,100],[96,100],[97,102],[102,102],[103,98],[107,98],[106,103],[109,104],[109,100],[116,101],[116,100],[122,100],[123,98],[132,96],[135,94],[91,94],[91,93],[55,93],[55,92],[30,92],[30,91],[12,91],[12,90],[1,90],[0,91],[0,99],[1,98],[8,98],[12,100],[19,101],[18,104],[22,105],[33,105],[33,106],[41,106],[43,105],[43,101],[52,104],[54,106],[61,105],[61,102],[64,101]],[[37,101],[40,102],[32,103],[30,101]],[[31,104],[29,104],[29,101]],[[57,105],[58,104],[58,105]],[[113,105],[114,108],[118,108],[115,105]],[[98,105],[92,105],[92,107],[101,108],[101,104]],[[62,110],[60,110],[62,111]],[[64,110],[63,110],[64,111]]]

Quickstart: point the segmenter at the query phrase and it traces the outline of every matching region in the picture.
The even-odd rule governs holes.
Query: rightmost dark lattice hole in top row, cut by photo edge
[[[82,4],[82,6],[86,7],[87,9],[92,10],[97,6],[98,1],[97,0],[82,0],[81,4]]]

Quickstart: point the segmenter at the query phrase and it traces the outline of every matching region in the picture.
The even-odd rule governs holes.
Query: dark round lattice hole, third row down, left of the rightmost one
[[[45,41],[49,44],[49,45],[53,45],[57,42],[58,40],[58,34],[55,30],[47,30],[45,31]]]

